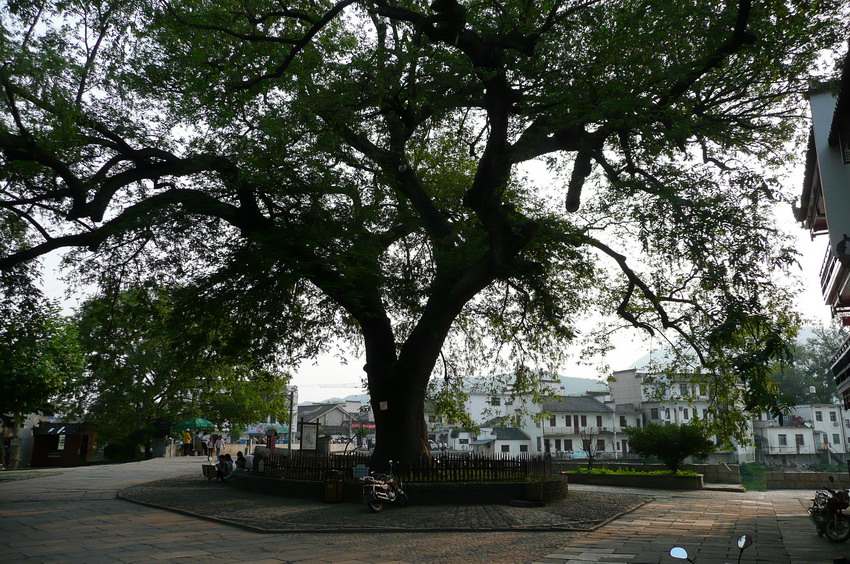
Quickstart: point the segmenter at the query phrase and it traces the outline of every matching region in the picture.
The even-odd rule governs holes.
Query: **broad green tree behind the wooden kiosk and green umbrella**
[[[99,423],[105,440],[149,449],[163,421],[204,417],[241,433],[246,424],[287,412],[288,376],[242,348],[233,320],[184,315],[179,295],[134,288],[80,309],[87,371],[66,401]]]

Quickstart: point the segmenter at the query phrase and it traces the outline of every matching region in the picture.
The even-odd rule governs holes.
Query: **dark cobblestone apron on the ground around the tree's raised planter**
[[[119,497],[262,532],[308,531],[589,531],[651,502],[637,494],[570,492],[545,507],[507,505],[389,506],[371,513],[361,504],[330,504],[245,492],[196,476],[125,489]]]

